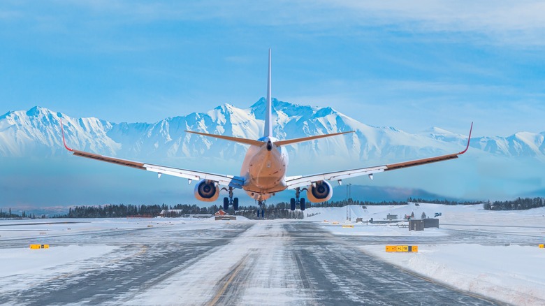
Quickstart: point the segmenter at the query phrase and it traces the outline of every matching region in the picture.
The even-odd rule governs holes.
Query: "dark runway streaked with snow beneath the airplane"
[[[486,234],[456,232],[422,239],[430,243],[456,237],[491,242]],[[71,262],[75,269],[69,273],[52,268],[23,289],[4,286],[0,304],[500,305],[396,268],[362,248],[395,240],[400,238],[332,235],[319,223],[300,221],[236,221],[199,228],[176,224],[61,235],[43,243],[109,245],[115,251]],[[2,247],[28,244],[10,240]],[[0,282],[21,277],[32,276],[14,275]]]

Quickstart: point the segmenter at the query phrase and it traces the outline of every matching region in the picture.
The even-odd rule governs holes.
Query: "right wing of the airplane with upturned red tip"
[[[314,174],[314,175],[299,175],[299,176],[293,176],[293,177],[286,177],[286,184],[288,186],[288,189],[295,189],[298,187],[309,186],[310,184],[314,182],[319,182],[324,180],[338,181],[338,180],[343,180],[349,177],[358,177],[361,175],[372,175],[373,173],[380,173],[380,172],[385,172],[385,171],[390,171],[395,169],[426,165],[426,163],[435,163],[437,161],[447,161],[449,159],[457,159],[458,155],[464,154],[465,152],[467,152],[467,149],[469,149],[472,130],[473,130],[473,123],[471,124],[470,136],[467,139],[467,147],[465,147],[465,150],[463,150],[462,152],[446,154],[442,156],[435,156],[435,157],[430,157],[427,159],[416,159],[414,161],[404,161],[402,163],[390,163],[383,166],[357,168],[357,169],[351,169],[351,170],[342,170],[342,171],[335,171],[330,173],[321,173],[321,174]]]

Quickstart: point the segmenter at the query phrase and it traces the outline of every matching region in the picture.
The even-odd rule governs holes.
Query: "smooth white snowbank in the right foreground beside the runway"
[[[362,251],[460,290],[514,305],[545,303],[545,251],[537,245],[420,245],[418,253],[386,253],[373,245]]]

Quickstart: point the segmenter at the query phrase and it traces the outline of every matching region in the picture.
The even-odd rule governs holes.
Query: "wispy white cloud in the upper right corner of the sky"
[[[526,31],[545,29],[540,1],[335,1],[354,15],[384,23],[420,23],[428,31]]]

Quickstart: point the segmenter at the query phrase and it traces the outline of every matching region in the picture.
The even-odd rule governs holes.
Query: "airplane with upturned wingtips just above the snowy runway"
[[[304,141],[315,140],[319,138],[339,136],[347,133],[354,133],[354,131],[344,131],[340,133],[309,136],[305,138],[296,138],[289,140],[279,140],[278,138],[275,138],[273,136],[270,66],[271,51],[269,49],[267,105],[263,137],[257,140],[253,140],[209,133],[200,133],[196,131],[186,131],[187,133],[193,133],[200,136],[219,138],[222,140],[234,141],[236,143],[249,145],[244,161],[242,161],[240,175],[222,175],[196,170],[172,168],[168,166],[159,166],[138,161],[117,159],[114,157],[74,150],[66,145],[66,140],[64,138],[64,127],[61,119],[60,125],[64,147],[66,148],[66,150],[73,152],[73,155],[75,156],[82,156],[89,159],[96,159],[99,161],[116,163],[122,166],[152,171],[154,173],[158,173],[159,177],[161,177],[162,174],[182,177],[184,179],[187,179],[189,184],[191,184],[191,182],[194,180],[198,181],[194,188],[194,196],[199,201],[216,201],[217,198],[219,198],[220,191],[227,191],[228,196],[224,198],[224,210],[228,210],[228,207],[230,205],[233,206],[233,209],[235,211],[238,210],[238,198],[233,197],[233,191],[235,189],[242,189],[248,194],[248,196],[253,198],[260,207],[262,207],[261,217],[264,217],[263,205],[265,201],[280,191],[293,189],[295,191],[295,198],[291,198],[290,200],[290,210],[296,210],[296,206],[299,206],[300,210],[305,210],[305,198],[302,198],[300,196],[301,191],[307,191],[307,198],[312,203],[325,202],[328,201],[331,196],[333,196],[333,188],[328,181],[336,180],[339,184],[342,184],[342,180],[344,179],[358,177],[361,175],[368,175],[372,180],[373,174],[375,173],[382,173],[390,170],[397,170],[412,166],[420,166],[425,165],[426,163],[434,163],[437,161],[457,159],[458,155],[464,154],[470,147],[473,122],[470,128],[470,135],[467,139],[467,146],[465,147],[465,150],[458,153],[435,156],[427,159],[404,161],[401,163],[390,163],[382,166],[355,168],[350,170],[319,173],[314,175],[286,176],[288,168],[288,154],[286,151],[286,145],[292,145],[294,143],[301,143]],[[257,211],[257,214],[259,217],[259,210]]]

